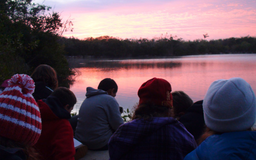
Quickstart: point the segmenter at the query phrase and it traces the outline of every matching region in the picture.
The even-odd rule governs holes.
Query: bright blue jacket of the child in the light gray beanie
[[[184,160],[256,160],[256,131],[209,136]]]

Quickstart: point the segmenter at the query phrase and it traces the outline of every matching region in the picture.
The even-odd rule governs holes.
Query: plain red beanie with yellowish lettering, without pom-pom
[[[152,78],[143,83],[138,90],[140,98],[139,105],[153,103],[158,106],[173,107],[173,97],[171,95],[171,84],[161,78]]]

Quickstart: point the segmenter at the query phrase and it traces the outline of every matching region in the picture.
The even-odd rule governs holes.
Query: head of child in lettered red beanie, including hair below
[[[132,119],[171,116],[171,84],[161,78],[152,78],[143,83],[139,90],[138,107]]]

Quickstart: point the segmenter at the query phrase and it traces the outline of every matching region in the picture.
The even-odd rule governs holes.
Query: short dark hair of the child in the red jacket
[[[68,104],[68,109],[73,107],[77,102],[75,94],[66,87],[58,87],[53,91],[51,96],[57,97],[63,106],[66,106]]]

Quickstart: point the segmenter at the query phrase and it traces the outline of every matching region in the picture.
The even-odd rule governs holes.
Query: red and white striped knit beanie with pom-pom
[[[41,115],[32,93],[35,83],[15,74],[0,94],[0,136],[33,146],[42,130]]]

